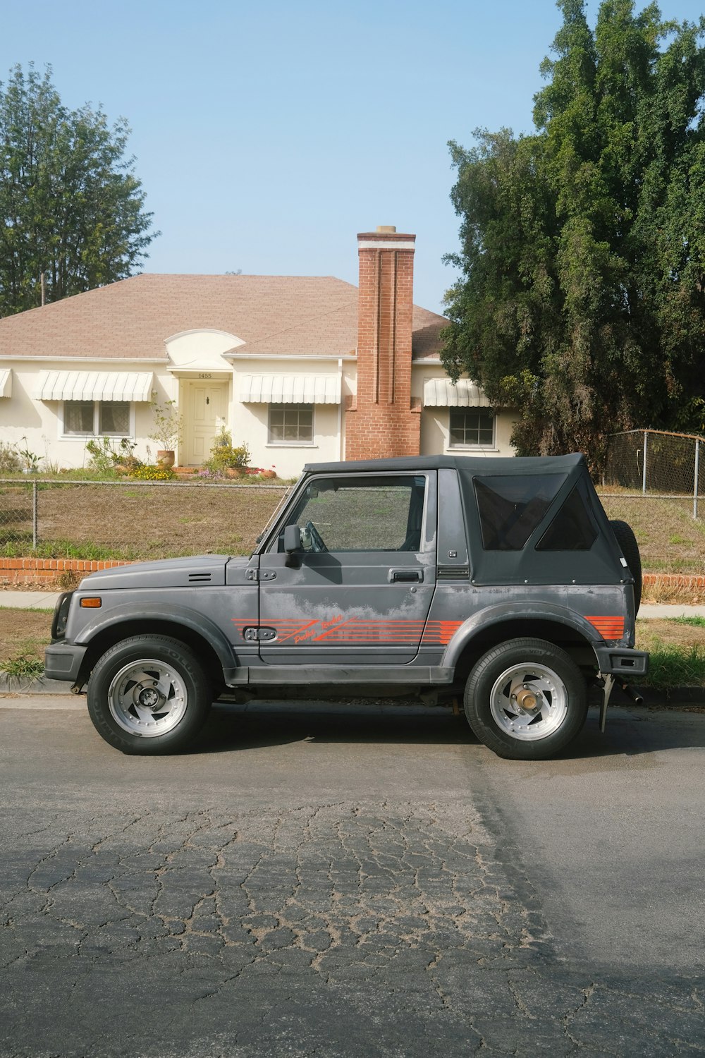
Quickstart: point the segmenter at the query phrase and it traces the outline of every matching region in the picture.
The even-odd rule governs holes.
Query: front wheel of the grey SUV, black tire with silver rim
[[[98,734],[124,753],[175,753],[208,715],[210,681],[192,652],[168,636],[132,636],[96,662],[88,711]]]

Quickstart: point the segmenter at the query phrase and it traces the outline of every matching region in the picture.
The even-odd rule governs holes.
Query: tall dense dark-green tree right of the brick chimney
[[[535,132],[451,143],[461,277],[444,364],[518,409],[522,454],[632,426],[702,428],[705,50],[656,4],[582,0],[544,59]]]

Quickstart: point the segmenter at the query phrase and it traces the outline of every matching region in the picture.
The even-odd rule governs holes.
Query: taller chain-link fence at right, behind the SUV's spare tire
[[[609,439],[602,487],[661,499],[692,499],[692,516],[705,498],[705,440],[690,434],[630,430]]]

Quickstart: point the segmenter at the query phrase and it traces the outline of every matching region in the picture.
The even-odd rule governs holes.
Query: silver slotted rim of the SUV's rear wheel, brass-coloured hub
[[[512,692],[526,689],[536,695],[536,708],[524,710]],[[489,692],[493,719],[504,733],[520,742],[536,742],[553,734],[568,714],[568,691],[560,676],[544,664],[525,662],[505,669]]]

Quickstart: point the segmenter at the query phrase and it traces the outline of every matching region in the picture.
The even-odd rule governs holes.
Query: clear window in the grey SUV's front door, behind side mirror
[[[422,475],[316,478],[286,524],[299,526],[304,551],[420,551],[425,495]]]

